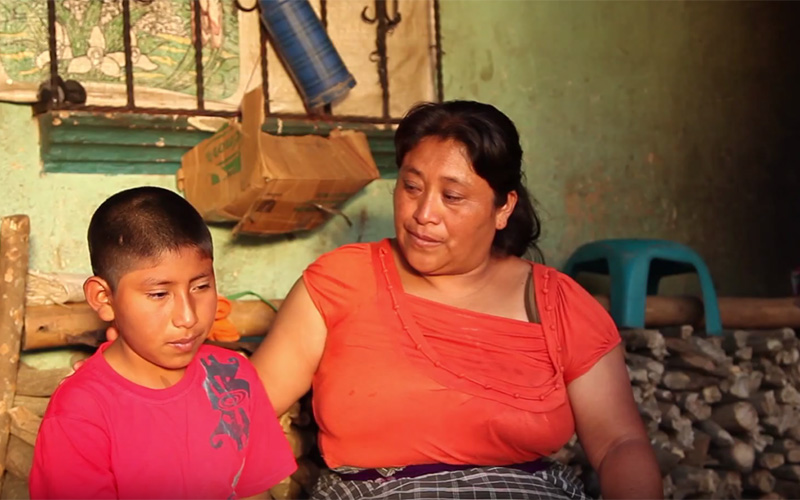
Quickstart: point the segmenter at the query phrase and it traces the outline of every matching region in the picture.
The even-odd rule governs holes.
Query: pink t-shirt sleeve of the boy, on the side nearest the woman
[[[236,495],[246,498],[272,488],[297,470],[292,449],[278,423],[255,368],[244,363],[250,382],[250,438]]]

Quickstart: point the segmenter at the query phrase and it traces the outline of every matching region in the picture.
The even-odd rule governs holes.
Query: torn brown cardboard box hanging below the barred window
[[[234,233],[280,234],[316,227],[379,177],[363,132],[329,137],[261,131],[261,88],[231,121],[181,159],[179,185],[210,222],[234,221]]]

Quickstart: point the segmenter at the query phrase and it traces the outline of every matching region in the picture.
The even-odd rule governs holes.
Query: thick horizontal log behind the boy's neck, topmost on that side
[[[280,307],[282,300],[270,300]],[[263,337],[275,311],[256,300],[235,300],[228,316],[243,337]],[[98,346],[105,340],[108,323],[101,321],[86,302],[33,306],[25,313],[23,350],[83,344]]]

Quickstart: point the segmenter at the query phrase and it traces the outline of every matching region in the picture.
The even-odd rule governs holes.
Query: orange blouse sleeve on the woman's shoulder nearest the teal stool
[[[567,384],[589,371],[621,341],[608,312],[582,286],[561,273],[558,273],[558,324]]]

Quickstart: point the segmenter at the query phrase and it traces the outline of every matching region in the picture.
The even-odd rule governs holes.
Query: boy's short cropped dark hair
[[[112,290],[142,259],[186,247],[214,258],[211,233],[197,210],[159,187],[128,189],[108,198],[92,216],[88,239],[92,272]]]

